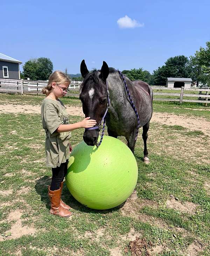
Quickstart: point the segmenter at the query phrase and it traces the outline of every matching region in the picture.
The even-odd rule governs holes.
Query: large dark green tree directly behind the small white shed
[[[170,57],[165,65],[153,71],[154,85],[166,85],[168,77],[189,78],[190,75],[191,66],[186,56]]]

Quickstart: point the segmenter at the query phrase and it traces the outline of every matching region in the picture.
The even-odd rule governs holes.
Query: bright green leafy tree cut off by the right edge
[[[206,48],[200,47],[195,56],[190,56],[192,66],[192,79],[198,83],[210,85],[210,41],[206,42]]]

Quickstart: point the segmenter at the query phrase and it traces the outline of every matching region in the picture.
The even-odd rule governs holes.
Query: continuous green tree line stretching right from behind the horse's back
[[[168,77],[191,78],[197,86],[198,83],[210,86],[210,41],[206,42],[206,48],[200,47],[189,59],[184,55],[170,57],[152,74],[143,68],[123,70],[123,74],[131,80],[142,80],[156,86],[165,86]]]

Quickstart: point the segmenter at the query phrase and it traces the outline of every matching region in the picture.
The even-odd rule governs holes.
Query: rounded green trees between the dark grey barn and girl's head
[[[23,65],[23,76],[31,80],[47,80],[52,73],[53,64],[48,58],[31,59]]]

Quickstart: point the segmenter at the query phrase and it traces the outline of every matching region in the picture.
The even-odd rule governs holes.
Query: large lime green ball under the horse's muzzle
[[[104,210],[125,202],[137,178],[137,162],[131,150],[120,140],[104,136],[99,148],[82,141],[73,149],[65,181],[77,201]]]

